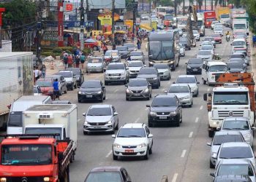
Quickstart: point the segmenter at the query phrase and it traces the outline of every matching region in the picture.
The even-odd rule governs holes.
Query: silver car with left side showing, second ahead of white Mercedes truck
[[[215,132],[214,138],[207,146],[211,146],[210,168],[216,166],[216,157],[219,147],[226,142],[244,142],[244,137],[241,132],[237,131],[219,131]]]

